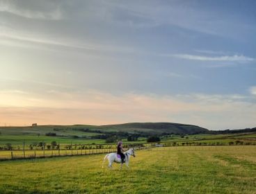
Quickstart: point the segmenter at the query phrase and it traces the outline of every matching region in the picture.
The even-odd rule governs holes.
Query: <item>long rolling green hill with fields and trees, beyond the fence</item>
[[[119,125],[38,125],[26,127],[0,127],[0,145],[37,144],[56,141],[58,143],[105,143],[109,136],[126,140],[135,135],[145,141],[150,135],[199,134],[208,130],[195,125],[178,123],[125,123]]]

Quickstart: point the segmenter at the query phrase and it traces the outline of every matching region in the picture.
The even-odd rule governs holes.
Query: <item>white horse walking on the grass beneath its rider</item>
[[[135,152],[134,152],[134,149],[129,149],[127,150],[126,152],[124,152],[124,155],[125,155],[125,164],[127,166],[127,168],[129,168],[129,159],[131,156],[135,157]],[[119,155],[120,156],[120,155]],[[103,164],[104,164],[104,161],[105,159],[108,159],[109,160],[109,168],[112,168],[112,164],[113,162],[116,162],[118,164],[121,164],[120,168],[122,168],[122,160],[120,157],[118,157],[118,154],[117,153],[110,153],[110,154],[107,154],[105,157],[104,157],[104,160],[102,162],[102,168],[103,168]]]

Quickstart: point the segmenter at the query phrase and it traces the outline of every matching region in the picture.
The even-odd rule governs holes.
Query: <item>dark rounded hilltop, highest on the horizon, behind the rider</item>
[[[125,123],[119,125],[102,125],[97,128],[99,130],[150,132],[154,134],[199,134],[209,132],[209,130],[196,125],[185,125],[179,123]]]

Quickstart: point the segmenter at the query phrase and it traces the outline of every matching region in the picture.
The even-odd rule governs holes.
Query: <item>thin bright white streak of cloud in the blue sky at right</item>
[[[244,55],[223,55],[223,56],[216,56],[216,57],[209,57],[205,55],[188,55],[188,54],[174,54],[174,55],[166,55],[166,56],[173,56],[175,58],[180,58],[184,60],[199,60],[199,61],[213,61],[213,62],[252,62],[255,59],[249,58]]]

